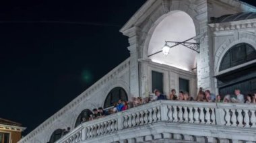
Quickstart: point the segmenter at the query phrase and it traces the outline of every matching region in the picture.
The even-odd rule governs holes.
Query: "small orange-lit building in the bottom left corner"
[[[22,132],[26,128],[22,124],[0,118],[0,142],[16,143],[22,138]]]

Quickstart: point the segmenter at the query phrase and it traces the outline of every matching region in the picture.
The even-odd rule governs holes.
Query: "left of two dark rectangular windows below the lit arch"
[[[161,93],[163,93],[163,74],[152,70],[152,92],[155,89],[158,89]]]

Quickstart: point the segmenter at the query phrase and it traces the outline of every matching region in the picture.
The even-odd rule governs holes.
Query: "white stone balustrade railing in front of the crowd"
[[[86,142],[157,122],[255,130],[255,111],[253,104],[155,101],[86,122],[57,142]]]

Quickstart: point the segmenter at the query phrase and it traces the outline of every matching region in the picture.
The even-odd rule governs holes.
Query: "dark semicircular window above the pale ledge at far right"
[[[222,58],[220,71],[255,59],[256,51],[253,46],[246,43],[236,44],[232,46],[232,48],[226,52],[224,58]]]

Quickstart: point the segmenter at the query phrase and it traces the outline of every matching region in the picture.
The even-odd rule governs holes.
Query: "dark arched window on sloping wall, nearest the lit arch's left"
[[[115,87],[115,89],[112,89],[106,96],[104,101],[104,108],[113,106],[114,103],[119,101],[119,99],[128,101],[127,93],[122,87]]]

